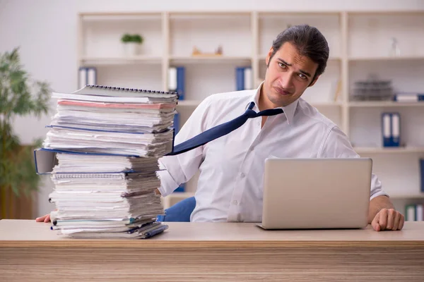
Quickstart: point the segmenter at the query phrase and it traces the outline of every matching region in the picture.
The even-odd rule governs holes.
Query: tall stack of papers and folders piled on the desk
[[[177,94],[88,85],[59,98],[43,146],[56,153],[52,229],[73,238],[148,238],[167,226],[158,158],[172,151]]]

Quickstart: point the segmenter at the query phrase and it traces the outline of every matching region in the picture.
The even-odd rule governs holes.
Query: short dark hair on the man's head
[[[324,73],[326,62],[329,59],[329,44],[326,42],[324,35],[317,29],[310,25],[293,25],[288,29],[281,32],[277,38],[272,42],[272,54],[269,58],[276,54],[276,51],[281,48],[285,42],[293,44],[301,56],[307,56],[314,63],[318,64],[315,78]]]

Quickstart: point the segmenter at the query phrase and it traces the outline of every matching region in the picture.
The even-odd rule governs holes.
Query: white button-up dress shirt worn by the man
[[[261,86],[204,99],[179,130],[175,145],[240,116],[250,102],[259,111]],[[282,109],[284,114],[269,116],[263,128],[261,118],[249,118],[237,130],[204,146],[161,158],[165,170],[159,172],[160,193],[170,195],[200,170],[191,221],[260,222],[266,158],[359,157],[348,137],[302,98]],[[379,195],[387,194],[373,174],[371,199]]]

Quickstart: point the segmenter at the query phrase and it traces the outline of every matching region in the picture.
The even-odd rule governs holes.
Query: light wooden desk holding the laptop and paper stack
[[[379,233],[168,225],[148,240],[77,240],[2,220],[0,281],[424,281],[424,222]]]

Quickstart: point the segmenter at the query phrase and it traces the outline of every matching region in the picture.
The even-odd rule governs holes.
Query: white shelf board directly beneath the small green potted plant
[[[83,65],[126,65],[131,63],[161,63],[160,56],[83,57]]]

